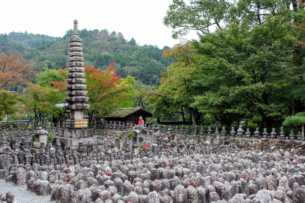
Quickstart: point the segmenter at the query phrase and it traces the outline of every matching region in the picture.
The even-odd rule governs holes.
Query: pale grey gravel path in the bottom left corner
[[[13,191],[15,201],[19,203],[49,203],[55,201],[50,200],[50,195],[48,196],[38,196],[34,192],[28,191],[27,187],[19,187],[13,184],[12,182],[5,182],[5,180],[0,180],[0,190],[3,192]]]

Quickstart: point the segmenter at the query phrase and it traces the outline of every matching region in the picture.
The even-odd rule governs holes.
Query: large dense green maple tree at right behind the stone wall
[[[202,36],[194,44],[203,94],[194,106],[227,125],[254,116],[267,127],[280,122],[293,108],[290,91],[300,77],[291,62],[296,40],[289,26],[280,16],[270,17],[252,29],[235,22]]]

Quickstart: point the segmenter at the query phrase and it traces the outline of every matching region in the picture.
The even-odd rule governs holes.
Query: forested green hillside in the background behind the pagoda
[[[33,70],[42,72],[46,68],[62,69],[68,62],[68,43],[72,30],[63,37],[50,37],[32,33],[0,34],[0,51],[21,53],[23,58],[32,62]],[[122,33],[108,30],[80,30],[83,39],[84,61],[87,65],[105,70],[112,61],[117,74],[122,78],[127,75],[137,77],[145,84],[159,84],[160,71],[166,71],[171,59],[162,58],[163,50],[157,46],[139,46],[135,39],[126,40]]]

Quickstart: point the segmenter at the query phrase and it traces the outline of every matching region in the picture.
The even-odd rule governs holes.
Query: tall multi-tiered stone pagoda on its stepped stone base
[[[68,105],[64,107],[66,110],[70,110],[70,119],[65,122],[64,126],[66,128],[61,129],[62,136],[55,137],[54,143],[60,144],[62,147],[74,147],[82,142],[84,146],[90,145],[94,148],[94,146],[102,144],[104,140],[102,137],[94,136],[94,130],[88,128],[88,120],[83,117],[83,110],[89,109],[90,105],[85,104],[89,97],[86,97],[87,91],[84,91],[87,85],[84,84],[86,79],[84,79],[84,58],[81,42],[82,40],[78,36],[77,20],[74,20],[73,35],[70,39],[68,52],[69,73],[67,77],[69,79],[66,80],[68,82],[66,88],[70,92],[66,92],[66,95],[69,96],[65,98]]]

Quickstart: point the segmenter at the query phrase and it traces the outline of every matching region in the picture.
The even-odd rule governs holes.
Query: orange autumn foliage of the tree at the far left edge
[[[7,89],[12,83],[15,86],[27,83],[35,73],[28,64],[22,54],[0,52],[0,89]]]

